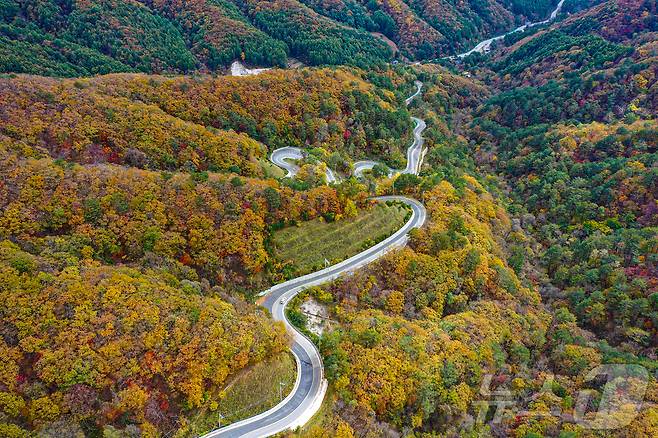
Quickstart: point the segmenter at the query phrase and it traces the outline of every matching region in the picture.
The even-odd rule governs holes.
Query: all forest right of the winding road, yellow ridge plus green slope
[[[429,223],[309,293],[336,320],[319,338],[336,395],[301,436],[658,433],[654,379],[623,427],[588,424],[605,397],[588,371],[658,369],[656,4],[593,3],[452,71],[418,67],[430,151],[387,189]],[[478,417],[492,399],[510,404]]]

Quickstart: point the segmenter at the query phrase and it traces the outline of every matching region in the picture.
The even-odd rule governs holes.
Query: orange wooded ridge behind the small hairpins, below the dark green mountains
[[[0,135],[79,163],[249,176],[261,175],[268,147],[401,154],[412,126],[401,98],[364,79],[328,69],[244,79],[0,78]]]

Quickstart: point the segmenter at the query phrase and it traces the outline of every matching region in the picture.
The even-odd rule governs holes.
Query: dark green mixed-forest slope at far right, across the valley
[[[503,91],[475,112],[471,131],[478,161],[504,176],[512,209],[531,218],[546,298],[652,357],[656,31],[655,2],[610,1],[521,39],[490,63]]]

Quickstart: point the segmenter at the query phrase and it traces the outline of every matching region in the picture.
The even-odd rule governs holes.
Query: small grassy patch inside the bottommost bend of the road
[[[285,398],[292,391],[296,378],[297,365],[288,352],[248,368],[222,390],[224,396],[216,410],[199,413],[189,432],[203,435],[212,430],[220,414],[222,426],[226,426],[270,409],[279,403],[280,395]]]

